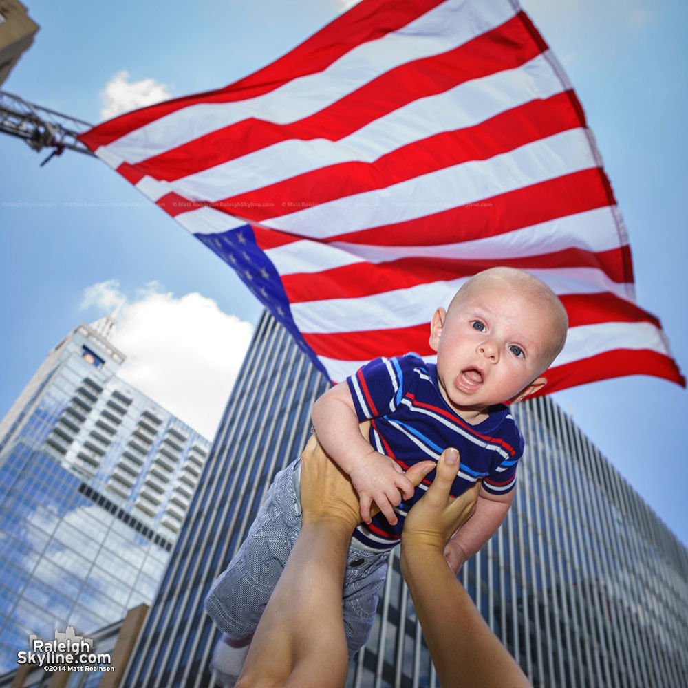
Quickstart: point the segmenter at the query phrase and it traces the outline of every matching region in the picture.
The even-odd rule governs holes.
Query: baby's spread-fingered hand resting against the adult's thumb
[[[401,466],[378,452],[361,458],[349,477],[358,493],[361,518],[365,523],[370,523],[370,506],[375,502],[389,524],[394,526],[398,520],[394,507],[400,504],[402,496],[411,499],[415,491]]]

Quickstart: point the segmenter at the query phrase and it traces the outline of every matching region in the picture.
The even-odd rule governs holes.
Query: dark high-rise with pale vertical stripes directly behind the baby
[[[264,316],[123,685],[211,685],[217,632],[204,596],[272,475],[305,444],[310,407],[326,387]],[[526,453],[513,508],[460,574],[480,612],[535,687],[685,687],[686,548],[552,400],[514,413]],[[394,552],[347,686],[436,685]]]

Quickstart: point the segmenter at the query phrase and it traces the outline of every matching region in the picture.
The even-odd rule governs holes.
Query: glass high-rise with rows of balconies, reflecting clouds
[[[210,442],[118,378],[114,321],[81,324],[0,422],[0,673],[28,637],[151,603]]]

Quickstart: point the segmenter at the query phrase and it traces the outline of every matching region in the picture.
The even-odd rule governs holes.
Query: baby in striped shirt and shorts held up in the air
[[[567,327],[566,310],[543,282],[521,270],[491,268],[466,281],[446,312],[433,314],[436,365],[415,354],[377,358],[316,401],[318,439],[350,476],[364,522],[354,533],[343,585],[350,657],[367,641],[403,519],[434,477],[413,488],[405,469],[456,447],[461,468],[452,494],[482,480],[475,514],[444,551],[457,572],[494,535],[513,499],[523,438],[504,402],[546,383],[541,374],[561,351]],[[359,432],[366,420],[369,442]],[[373,502],[380,508],[375,517]],[[213,657],[218,672],[239,674],[299,526],[297,460],[275,476],[246,541],[206,599],[224,633]]]

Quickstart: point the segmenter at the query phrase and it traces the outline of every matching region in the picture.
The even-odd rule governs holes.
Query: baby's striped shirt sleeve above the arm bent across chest
[[[396,409],[404,396],[405,380],[418,360],[417,356],[374,358],[347,378],[358,422]]]

